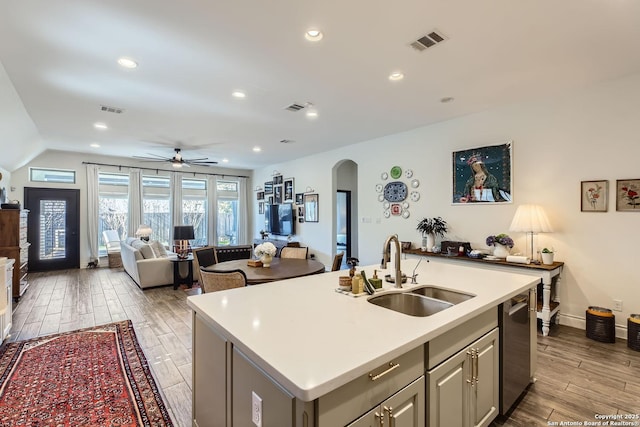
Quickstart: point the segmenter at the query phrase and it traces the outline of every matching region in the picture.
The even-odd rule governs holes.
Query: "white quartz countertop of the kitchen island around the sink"
[[[410,274],[418,260],[402,261]],[[392,263],[390,263],[391,265]],[[367,277],[379,266],[358,267]],[[191,296],[188,305],[302,401],[312,401],[485,310],[539,278],[472,265],[422,262],[418,284],[476,295],[428,317],[413,317],[336,292],[346,270]],[[378,277],[393,275],[393,268]],[[385,283],[382,291],[396,292]]]

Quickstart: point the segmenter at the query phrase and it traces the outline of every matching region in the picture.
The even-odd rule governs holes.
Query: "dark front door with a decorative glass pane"
[[[29,271],[80,267],[80,190],[24,189]]]

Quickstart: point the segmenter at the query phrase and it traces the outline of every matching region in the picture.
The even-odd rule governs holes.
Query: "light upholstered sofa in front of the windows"
[[[120,255],[124,270],[140,288],[173,284],[173,263],[168,257],[174,254],[160,242],[127,237],[121,242]]]

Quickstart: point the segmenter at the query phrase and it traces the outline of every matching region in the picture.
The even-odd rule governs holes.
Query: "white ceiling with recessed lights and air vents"
[[[309,27],[324,39],[306,41]],[[409,47],[434,29],[448,40]],[[640,72],[638,41],[637,0],[5,1],[0,148],[180,146],[258,168]],[[395,70],[405,79],[389,81]],[[319,117],[284,110],[293,102]]]

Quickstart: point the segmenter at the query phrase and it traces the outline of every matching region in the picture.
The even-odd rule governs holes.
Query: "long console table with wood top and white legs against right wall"
[[[473,262],[474,267],[482,267],[493,270],[509,270],[517,268],[518,273],[528,274],[530,276],[539,277],[542,282],[542,301],[538,299],[538,309],[536,317],[542,320],[542,335],[549,335],[549,324],[551,318],[560,312],[560,301],[558,299],[557,282],[560,279],[560,273],[564,262],[554,262],[551,265],[546,264],[518,264],[514,262],[506,262],[502,260],[487,260],[481,258],[470,258],[467,256],[447,256],[444,254],[436,254],[433,252],[422,252],[420,249],[406,249],[403,251],[407,255],[419,255],[430,258],[436,258],[443,262]],[[551,294],[553,291],[553,299]],[[556,317],[556,322],[558,318]]]

